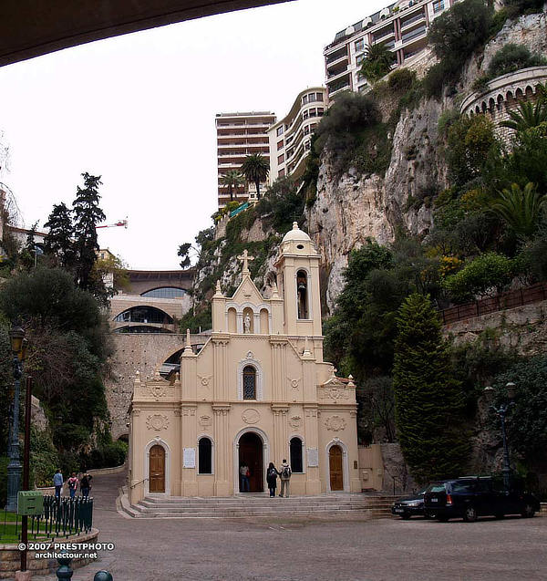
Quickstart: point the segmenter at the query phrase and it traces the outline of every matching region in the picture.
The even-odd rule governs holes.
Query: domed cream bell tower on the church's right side
[[[275,267],[284,299],[284,334],[320,337],[319,254],[296,222],[284,235]]]

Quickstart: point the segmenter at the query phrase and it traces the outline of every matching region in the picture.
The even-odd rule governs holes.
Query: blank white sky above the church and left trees
[[[215,113],[272,110],[325,83],[323,48],[387,0],[297,0],[117,36],[0,67],[0,173],[26,227],[102,176],[99,244],[130,268],[179,267],[217,209]]]

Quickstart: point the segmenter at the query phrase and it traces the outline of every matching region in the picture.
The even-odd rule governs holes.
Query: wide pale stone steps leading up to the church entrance
[[[393,496],[357,493],[270,498],[262,494],[187,498],[147,496],[126,513],[135,518],[378,518],[391,514]]]

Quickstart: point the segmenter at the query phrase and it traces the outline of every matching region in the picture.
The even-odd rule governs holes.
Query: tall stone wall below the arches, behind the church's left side
[[[129,433],[128,410],[136,372],[139,371],[142,379],[151,378],[167,358],[184,347],[185,336],[114,333],[112,338],[115,353],[110,361],[111,370],[105,379],[105,388],[112,421],[112,438],[117,440]],[[206,336],[191,336],[192,345],[203,344],[206,340]]]

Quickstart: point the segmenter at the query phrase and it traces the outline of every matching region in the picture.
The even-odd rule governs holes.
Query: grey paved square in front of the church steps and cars
[[[114,581],[397,580],[547,578],[547,518],[446,524],[385,518],[350,522],[129,519],[116,512],[124,475],[95,479],[99,541],[113,553],[77,569]],[[51,576],[50,581],[55,576]]]

